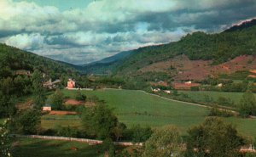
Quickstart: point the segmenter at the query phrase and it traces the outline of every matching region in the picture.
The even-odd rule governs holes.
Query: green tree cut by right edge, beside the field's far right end
[[[239,113],[242,117],[256,115],[256,99],[251,91],[247,91],[241,97]]]

